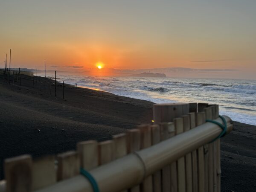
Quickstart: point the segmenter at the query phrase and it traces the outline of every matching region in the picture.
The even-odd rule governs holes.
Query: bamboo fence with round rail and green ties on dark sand
[[[112,140],[80,142],[76,151],[56,157],[6,159],[0,192],[93,192],[80,168],[100,192],[220,192],[220,139],[213,140],[222,129],[206,122],[223,124],[218,105],[155,104],[153,111],[153,124]],[[224,118],[228,134],[233,125]]]

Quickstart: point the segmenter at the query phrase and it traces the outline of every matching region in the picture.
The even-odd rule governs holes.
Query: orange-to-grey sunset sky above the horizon
[[[256,73],[255,0],[0,1],[0,63]],[[2,65],[2,64],[1,64]]]

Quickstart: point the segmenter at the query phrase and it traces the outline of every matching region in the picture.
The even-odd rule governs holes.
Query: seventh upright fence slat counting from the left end
[[[140,130],[130,129],[127,131],[127,151],[132,153],[140,150]],[[140,192],[140,185],[133,186],[130,192]]]

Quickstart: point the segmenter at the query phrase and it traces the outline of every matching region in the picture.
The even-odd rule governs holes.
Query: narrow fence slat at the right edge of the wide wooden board
[[[182,116],[184,132],[190,130],[190,119],[189,115]],[[185,156],[185,167],[186,167],[186,192],[193,191],[192,183],[192,154],[188,153]]]

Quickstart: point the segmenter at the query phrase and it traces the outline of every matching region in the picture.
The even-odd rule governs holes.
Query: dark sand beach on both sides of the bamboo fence
[[[43,82],[43,78],[41,78]],[[22,86],[0,79],[0,162],[21,154],[33,157],[73,150],[83,140],[108,140],[152,119],[152,102],[61,84]],[[223,192],[256,191],[256,126],[234,122],[221,139]]]

